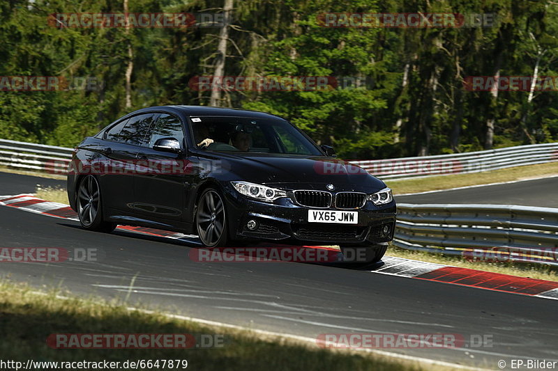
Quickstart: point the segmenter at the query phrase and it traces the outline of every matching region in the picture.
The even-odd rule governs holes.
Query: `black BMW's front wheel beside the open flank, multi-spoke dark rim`
[[[195,221],[197,235],[204,246],[227,246],[229,239],[225,200],[216,189],[206,189],[199,196]]]

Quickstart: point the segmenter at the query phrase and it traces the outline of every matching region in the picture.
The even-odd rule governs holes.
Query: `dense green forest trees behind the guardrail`
[[[130,12],[220,12],[224,0],[130,1]],[[208,10],[209,9],[209,10]],[[0,76],[90,77],[95,91],[0,92],[0,137],[73,146],[133,109],[209,104],[218,28],[49,26],[51,13],[121,13],[115,0],[0,4]],[[331,28],[324,13],[472,13],[494,26]],[[372,159],[558,140],[556,93],[471,92],[468,76],[556,76],[558,5],[529,0],[235,0],[225,75],[330,77],[325,90],[227,91],[221,105],[287,118],[341,157]],[[125,73],[133,49],[132,107]],[[345,86],[343,81],[361,81]],[[332,80],[333,81],[333,80]],[[487,123],[495,122],[487,140]]]

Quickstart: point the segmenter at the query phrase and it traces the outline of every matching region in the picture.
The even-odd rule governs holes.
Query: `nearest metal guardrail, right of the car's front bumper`
[[[393,244],[489,261],[558,265],[558,209],[398,204]]]

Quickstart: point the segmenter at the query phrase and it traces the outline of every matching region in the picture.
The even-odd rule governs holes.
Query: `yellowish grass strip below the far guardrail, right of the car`
[[[558,175],[558,162],[503,168],[500,170],[485,171],[483,173],[439,175],[407,180],[386,179],[386,184],[391,188],[393,194],[398,195],[480,184],[513,182],[514,180],[525,180],[531,177],[543,177],[545,175]]]

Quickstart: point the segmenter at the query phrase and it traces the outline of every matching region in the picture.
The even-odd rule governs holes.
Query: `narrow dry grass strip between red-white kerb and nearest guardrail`
[[[389,246],[386,255],[443,265],[453,265],[461,268],[477,269],[479,271],[491,271],[494,273],[510,274],[511,276],[558,282],[558,268],[551,267],[549,265],[535,263],[469,261],[461,258],[460,256],[405,250],[395,246]]]

